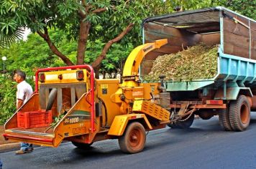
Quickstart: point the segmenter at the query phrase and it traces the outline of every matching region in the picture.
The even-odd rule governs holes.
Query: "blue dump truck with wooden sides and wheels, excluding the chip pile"
[[[145,56],[142,79],[159,56],[197,44],[218,47],[214,77],[165,80],[170,112],[174,112],[168,126],[188,128],[194,115],[204,120],[219,115],[224,130],[246,130],[250,112],[256,108],[255,20],[217,6],[149,17],[142,23],[142,35],[143,43],[168,39],[168,44]]]

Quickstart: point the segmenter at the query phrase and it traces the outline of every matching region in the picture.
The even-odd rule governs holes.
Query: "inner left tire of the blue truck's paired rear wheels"
[[[226,131],[232,131],[229,120],[229,109],[219,110],[219,125]]]

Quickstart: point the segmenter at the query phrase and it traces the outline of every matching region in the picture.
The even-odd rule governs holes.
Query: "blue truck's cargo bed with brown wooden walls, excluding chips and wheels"
[[[157,56],[175,53],[198,43],[219,45],[218,69],[214,78],[169,81],[166,82],[169,92],[223,87],[223,95],[217,94],[215,98],[232,99],[228,88],[247,89],[256,84],[255,20],[218,6],[150,17],[143,21],[142,26],[143,42],[168,39],[168,45],[147,54],[140,71],[142,76],[148,74]]]

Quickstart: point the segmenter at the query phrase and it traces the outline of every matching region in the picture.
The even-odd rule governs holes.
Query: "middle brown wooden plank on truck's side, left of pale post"
[[[244,47],[249,51],[250,47],[250,38],[243,37],[238,34],[233,34],[227,31],[224,31],[224,42],[234,44],[238,47]]]

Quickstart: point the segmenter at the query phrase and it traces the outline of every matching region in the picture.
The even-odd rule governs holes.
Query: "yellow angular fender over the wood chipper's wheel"
[[[117,115],[114,117],[108,135],[123,135],[129,121],[142,121],[145,128],[152,130],[152,126],[144,114]]]

